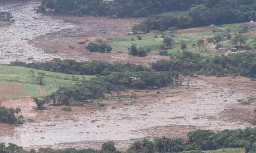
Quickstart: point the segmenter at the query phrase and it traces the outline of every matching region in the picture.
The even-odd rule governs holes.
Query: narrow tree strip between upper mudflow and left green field
[[[23,66],[32,69],[39,69],[43,71],[51,71],[65,74],[79,74],[79,75],[109,75],[111,72],[138,72],[150,71],[149,68],[142,65],[109,63],[106,61],[85,61],[78,62],[76,60],[61,60],[55,58],[47,62],[25,63],[20,61],[11,62],[13,66]]]

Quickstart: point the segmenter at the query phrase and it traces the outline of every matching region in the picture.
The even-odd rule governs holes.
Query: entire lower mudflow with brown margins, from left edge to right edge
[[[31,98],[4,99],[3,106],[20,106],[27,122],[15,128],[0,125],[4,129],[0,130],[0,140],[33,148],[99,148],[104,141],[114,140],[118,149],[126,149],[135,139],[145,137],[186,138],[187,132],[197,129],[253,126],[255,103],[241,103],[255,94],[255,82],[245,77],[200,76],[191,84],[191,88],[130,90],[119,98],[113,93],[98,101],[105,107],[95,101],[72,107],[72,111],[52,106],[35,111]],[[137,95],[131,98],[132,93]]]

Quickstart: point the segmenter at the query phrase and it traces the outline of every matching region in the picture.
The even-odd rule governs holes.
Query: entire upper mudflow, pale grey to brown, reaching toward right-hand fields
[[[90,53],[86,44],[78,42],[88,39],[95,42],[102,39],[126,35],[131,28],[145,18],[106,19],[101,17],[76,17],[71,15],[50,15],[36,13],[41,0],[0,1],[0,10],[12,12],[16,22],[0,26],[0,63],[11,61],[47,61],[53,58],[76,59],[78,61],[103,60],[110,62],[130,62],[148,65],[163,57],[150,55],[134,58],[117,53],[113,48],[110,54]],[[69,46],[75,46],[70,49]]]

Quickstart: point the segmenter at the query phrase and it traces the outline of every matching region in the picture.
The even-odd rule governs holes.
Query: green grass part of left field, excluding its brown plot
[[[34,71],[31,74],[30,71]],[[43,95],[49,95],[55,92],[59,87],[68,87],[76,83],[76,81],[71,80],[72,76],[78,77],[79,81],[90,80],[95,76],[87,75],[67,75],[63,73],[53,73],[48,71],[41,71],[36,69],[29,69],[20,66],[5,66],[0,65],[0,81],[12,81],[22,83],[26,88],[26,96],[40,96],[39,81],[36,79],[39,76],[38,73],[45,73],[43,79]],[[70,80],[65,80],[65,77],[69,77]],[[6,95],[11,96],[12,95]]]

